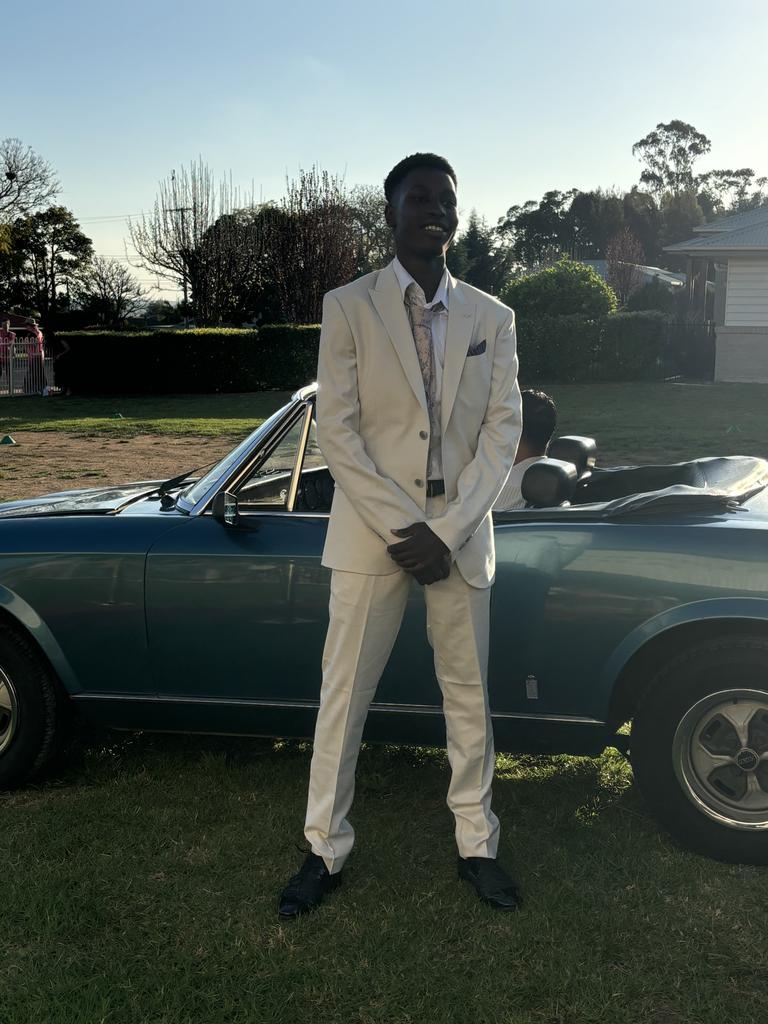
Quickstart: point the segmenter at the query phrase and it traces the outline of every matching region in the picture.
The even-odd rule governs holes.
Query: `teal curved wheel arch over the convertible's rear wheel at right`
[[[672,657],[719,636],[768,639],[768,599],[695,601],[644,623],[613,651],[603,672],[611,729],[631,719],[648,684]]]

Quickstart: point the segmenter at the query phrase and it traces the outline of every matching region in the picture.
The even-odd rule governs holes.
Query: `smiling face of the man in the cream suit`
[[[415,167],[387,203],[385,216],[399,257],[444,256],[459,225],[453,178],[432,167]]]

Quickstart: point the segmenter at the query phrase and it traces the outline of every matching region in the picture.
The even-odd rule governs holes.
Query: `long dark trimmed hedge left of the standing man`
[[[314,380],[319,327],[258,331],[72,331],[61,371],[76,394],[173,394],[290,389]]]

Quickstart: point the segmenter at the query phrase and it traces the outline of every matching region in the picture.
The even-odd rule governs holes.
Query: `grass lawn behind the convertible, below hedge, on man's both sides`
[[[559,433],[595,436],[604,464],[701,455],[768,454],[765,384],[553,384]],[[3,398],[0,434],[68,430],[237,436],[286,402],[287,391],[123,398]],[[120,413],[122,419],[115,418]]]

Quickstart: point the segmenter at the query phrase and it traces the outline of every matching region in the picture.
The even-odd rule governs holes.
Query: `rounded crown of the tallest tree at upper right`
[[[695,188],[693,165],[712,148],[710,139],[685,121],[659,123],[632,146],[633,156],[645,165],[640,181],[651,193],[676,195]]]

